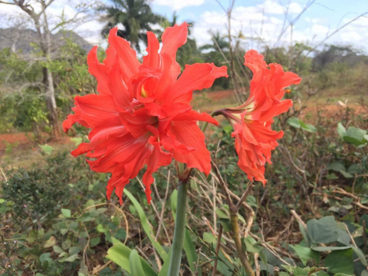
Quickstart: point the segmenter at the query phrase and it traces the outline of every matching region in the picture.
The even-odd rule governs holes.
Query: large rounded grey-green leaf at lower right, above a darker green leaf
[[[338,237],[337,224],[333,216],[308,220],[307,232],[312,243],[333,243]]]

